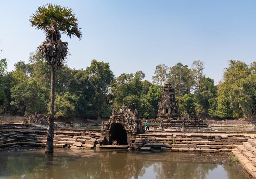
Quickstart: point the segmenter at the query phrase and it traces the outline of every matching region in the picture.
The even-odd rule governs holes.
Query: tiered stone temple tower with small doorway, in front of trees
[[[177,119],[179,114],[179,103],[175,100],[174,89],[170,83],[164,85],[161,100],[158,101],[157,117],[161,119]]]

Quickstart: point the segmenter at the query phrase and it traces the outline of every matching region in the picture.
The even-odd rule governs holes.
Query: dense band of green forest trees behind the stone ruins
[[[223,80],[217,86],[213,79],[203,74],[203,63],[194,63],[200,64],[200,68],[192,66],[189,69],[178,63],[168,71],[167,80],[174,86],[180,116],[237,118],[255,115],[255,62],[247,65],[230,60]],[[1,113],[49,114],[51,68],[40,53],[31,53],[28,63],[16,63],[15,70],[10,73],[6,72],[7,66],[4,69],[0,86]],[[177,69],[187,72],[180,75],[180,88],[176,74],[181,73],[173,75]],[[196,69],[200,71],[197,74],[202,75],[195,75]],[[108,63],[97,60],[92,60],[85,70],[63,65],[56,75],[55,115],[104,118],[111,115],[113,108],[118,110],[126,105],[132,110],[137,109],[140,118],[155,118],[163,87],[144,78],[142,71],[115,77]]]

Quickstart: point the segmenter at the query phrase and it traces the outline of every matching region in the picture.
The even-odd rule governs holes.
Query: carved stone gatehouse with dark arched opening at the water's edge
[[[136,134],[144,133],[145,126],[138,119],[138,113],[134,112],[127,106],[119,111],[113,109],[112,115],[108,122],[102,122],[101,133],[107,138],[107,144],[112,144],[113,140],[117,140],[119,145],[130,144],[130,138]],[[127,140],[129,139],[129,141]]]

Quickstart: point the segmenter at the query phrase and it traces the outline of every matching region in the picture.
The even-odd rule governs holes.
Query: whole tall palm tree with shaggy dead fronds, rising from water
[[[55,101],[55,73],[63,66],[68,54],[68,43],[61,41],[60,33],[82,37],[81,28],[72,9],[55,4],[41,5],[37,8],[29,22],[36,29],[44,30],[45,41],[38,46],[38,50],[52,69],[51,106],[47,129],[45,153],[53,153],[54,137],[54,101]]]

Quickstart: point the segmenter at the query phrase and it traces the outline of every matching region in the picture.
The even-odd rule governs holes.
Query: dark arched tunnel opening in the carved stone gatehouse
[[[109,131],[109,145],[113,140],[117,140],[119,145],[128,145],[127,133],[124,130],[124,126],[121,123],[114,123]]]

